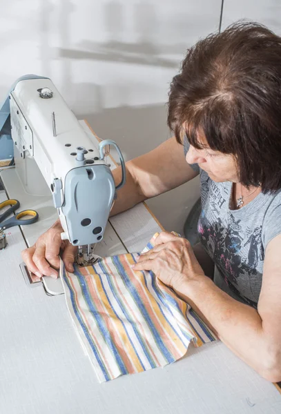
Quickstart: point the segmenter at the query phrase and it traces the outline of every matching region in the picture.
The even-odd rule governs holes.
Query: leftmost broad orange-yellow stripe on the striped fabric
[[[113,312],[113,309],[111,308],[108,302],[106,294],[104,293],[104,289],[101,286],[99,276],[97,275],[97,273],[95,272],[95,269],[92,266],[88,266],[87,270],[90,273],[90,275],[87,275],[85,279],[86,279],[86,282],[88,283],[90,295],[93,299],[93,302],[95,302],[95,306],[97,306],[97,310],[99,311],[99,313],[104,319],[106,327],[108,328],[108,331],[111,334],[110,335],[111,339],[113,339],[113,342],[115,343],[115,346],[117,347],[119,355],[123,359],[123,362],[126,366],[126,369],[128,370],[128,373],[132,374],[135,372],[144,371],[141,364],[139,363],[139,359],[137,355],[135,354],[133,346],[130,344],[130,342],[127,339],[128,336],[126,334],[126,331],[124,330],[124,327],[122,326],[122,322],[119,319],[117,319],[115,313]],[[99,296],[101,299],[95,292],[95,286],[93,284],[93,279],[95,279],[95,283],[97,284],[97,290],[99,292]],[[106,308],[107,317],[104,316],[104,308],[101,305],[101,301]],[[120,337],[122,338],[123,344],[117,335],[120,335]],[[132,362],[130,362],[130,359],[128,358],[128,355],[126,352],[130,355],[131,359],[133,360],[133,364],[135,364],[134,366]]]

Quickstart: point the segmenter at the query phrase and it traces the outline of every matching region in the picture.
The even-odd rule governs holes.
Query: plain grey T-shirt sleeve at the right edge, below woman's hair
[[[274,197],[267,210],[262,230],[265,250],[269,242],[281,234],[281,191]]]

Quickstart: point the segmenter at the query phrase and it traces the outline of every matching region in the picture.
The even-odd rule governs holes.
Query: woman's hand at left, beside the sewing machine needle
[[[35,273],[37,277],[43,275],[58,277],[58,272],[55,269],[59,269],[59,250],[63,250],[61,259],[66,266],[66,270],[73,272],[77,247],[72,246],[68,240],[61,240],[61,232],[63,231],[58,220],[37,239],[33,246],[21,252],[21,257],[28,270]]]

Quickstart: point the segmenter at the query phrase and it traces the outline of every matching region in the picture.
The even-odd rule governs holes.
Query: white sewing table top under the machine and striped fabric
[[[57,217],[52,201],[25,195],[13,169],[1,172],[1,178],[22,209],[39,212],[40,220],[23,228],[32,243]],[[139,251],[160,230],[144,204],[110,223],[97,254]],[[275,386],[222,342],[191,346],[175,364],[99,384],[72,328],[64,295],[48,297],[43,287],[26,285],[19,269],[26,242],[19,228],[9,230],[9,245],[0,251],[1,414],[281,413]]]

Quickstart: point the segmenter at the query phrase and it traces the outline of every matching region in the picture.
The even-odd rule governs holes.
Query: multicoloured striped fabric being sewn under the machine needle
[[[154,246],[156,233],[143,251]],[[130,268],[138,253],[106,257],[68,273],[66,302],[99,382],[180,359],[215,339],[200,317],[152,272]]]

